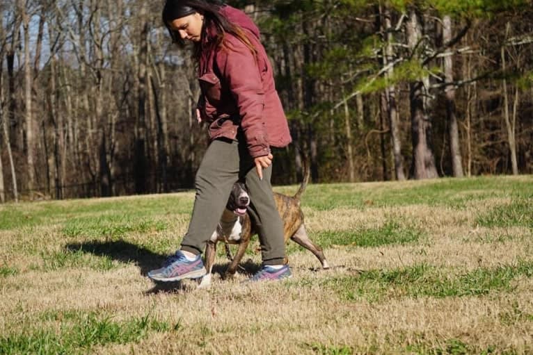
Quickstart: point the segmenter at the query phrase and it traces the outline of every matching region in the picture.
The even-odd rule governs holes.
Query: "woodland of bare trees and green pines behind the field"
[[[0,199],[170,192],[207,147],[163,1],[0,3]],[[259,24],[294,144],[273,183],[533,173],[527,0],[228,1]]]

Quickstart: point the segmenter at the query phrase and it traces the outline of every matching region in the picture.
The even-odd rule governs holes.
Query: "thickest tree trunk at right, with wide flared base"
[[[415,10],[409,14],[407,24],[408,46],[411,51],[420,50],[422,26]],[[413,53],[413,58],[420,58]],[[435,157],[431,149],[431,119],[427,114],[429,78],[423,76],[409,84],[411,105],[411,133],[413,136],[412,174],[415,179],[433,179],[438,177]]]

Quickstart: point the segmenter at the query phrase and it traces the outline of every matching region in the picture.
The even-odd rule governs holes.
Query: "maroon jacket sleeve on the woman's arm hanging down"
[[[254,158],[270,153],[264,124],[264,90],[257,59],[246,45],[228,35],[228,45],[216,54],[216,64],[230,89],[244,131],[248,151]]]

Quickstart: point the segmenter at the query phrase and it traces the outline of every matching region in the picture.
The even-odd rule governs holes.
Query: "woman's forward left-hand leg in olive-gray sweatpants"
[[[196,197],[189,230],[182,240],[182,250],[202,254],[228,202],[233,183],[238,178],[238,143],[214,140],[196,172]]]

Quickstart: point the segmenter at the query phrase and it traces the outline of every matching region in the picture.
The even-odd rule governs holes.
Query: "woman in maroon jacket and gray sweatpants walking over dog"
[[[196,113],[209,125],[210,144],[196,173],[196,198],[181,248],[148,276],[155,281],[203,276],[201,253],[233,183],[246,179],[263,261],[250,280],[285,279],[291,271],[284,264],[283,223],[270,183],[270,147],[285,147],[291,137],[259,30],[241,10],[203,0],[167,0],[163,22],[174,42],[193,42],[202,92]]]

